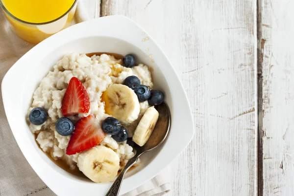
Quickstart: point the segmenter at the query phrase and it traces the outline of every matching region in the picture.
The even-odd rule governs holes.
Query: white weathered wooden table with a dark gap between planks
[[[86,4],[139,23],[182,78],[196,133],[168,196],[294,196],[293,0]]]

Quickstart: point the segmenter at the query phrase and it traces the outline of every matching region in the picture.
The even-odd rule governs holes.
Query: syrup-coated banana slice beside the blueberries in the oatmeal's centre
[[[135,92],[125,85],[111,85],[101,96],[105,113],[117,118],[122,124],[135,121],[140,113],[140,103]]]

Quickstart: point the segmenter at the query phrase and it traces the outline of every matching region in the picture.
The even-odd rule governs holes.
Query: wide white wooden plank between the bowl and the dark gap
[[[125,15],[158,42],[188,94],[196,134],[171,165],[168,196],[257,194],[256,4],[102,0],[102,16]]]

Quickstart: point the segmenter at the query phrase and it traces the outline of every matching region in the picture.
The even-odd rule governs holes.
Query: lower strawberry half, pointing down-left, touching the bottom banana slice
[[[95,116],[83,117],[75,124],[66,153],[72,155],[88,150],[100,144],[105,136]]]

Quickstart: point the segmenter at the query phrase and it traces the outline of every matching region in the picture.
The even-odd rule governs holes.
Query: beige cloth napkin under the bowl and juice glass
[[[78,2],[76,22],[89,20],[82,1]],[[0,11],[0,82],[8,69],[33,45],[20,40]],[[24,65],[25,66],[25,65]],[[171,189],[167,172],[159,174],[123,196],[162,196]],[[94,196],[95,194],[93,194]],[[56,196],[25,160],[8,125],[0,92],[0,196]]]

